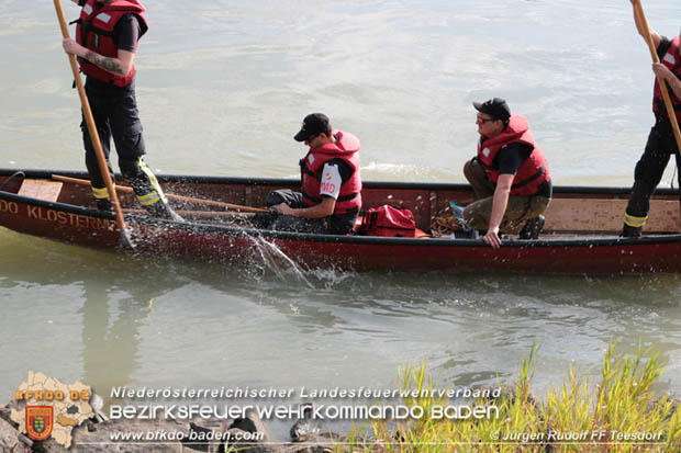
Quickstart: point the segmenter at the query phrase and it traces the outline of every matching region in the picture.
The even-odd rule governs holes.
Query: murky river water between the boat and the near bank
[[[8,396],[26,366],[96,389],[392,387],[400,364],[427,360],[440,381],[490,385],[515,374],[535,340],[539,388],[559,382],[573,363],[596,375],[609,342],[632,350],[639,339],[660,344],[670,362],[665,376],[681,388],[672,378],[681,347],[676,276],[314,271],[301,280],[299,269],[281,263],[236,269],[14,234],[3,239],[0,295],[15,316],[0,329],[35,337],[19,333],[2,346],[9,365],[0,372],[0,394]],[[54,353],[42,351],[53,343]]]

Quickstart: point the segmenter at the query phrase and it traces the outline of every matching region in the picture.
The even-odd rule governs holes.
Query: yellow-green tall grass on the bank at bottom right
[[[531,392],[536,352],[534,344],[529,356],[523,356],[515,382],[500,385],[499,397],[467,401],[426,395],[438,388],[428,376],[426,364],[408,365],[400,371],[399,386],[401,390],[417,390],[417,395],[403,398],[403,404],[421,406],[425,416],[399,421],[371,420],[355,427],[346,438],[347,443],[338,444],[336,451],[681,451],[681,415],[677,401],[669,395],[656,396],[651,389],[663,371],[659,353],[652,348],[644,350],[639,343],[635,353],[626,355],[616,353],[615,344],[611,344],[604,352],[598,384],[591,386],[570,367],[562,385],[549,388],[548,395],[538,399]],[[498,417],[496,412],[490,417],[459,419],[429,416],[434,407],[461,404],[495,406]],[[639,433],[644,433],[643,439],[637,439]],[[510,434],[512,439],[500,441]],[[573,439],[560,440],[559,435]]]

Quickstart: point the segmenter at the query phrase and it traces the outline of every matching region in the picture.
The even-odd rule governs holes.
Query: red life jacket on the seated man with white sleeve
[[[334,214],[359,212],[361,208],[361,178],[359,177],[359,138],[342,131],[333,131],[335,143],[310,149],[300,160],[303,203],[314,206],[322,202],[322,171],[331,159],[343,159],[353,169],[353,175],[343,185],[336,200]]]

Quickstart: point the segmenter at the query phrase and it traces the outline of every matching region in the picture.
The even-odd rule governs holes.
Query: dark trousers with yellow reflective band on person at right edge
[[[625,224],[641,228],[650,209],[650,196],[655,193],[669,158],[674,155],[679,167],[679,149],[671,124],[667,118],[657,118],[650,129],[646,149],[634,170],[634,186],[626,207]],[[681,185],[681,173],[678,174]]]

